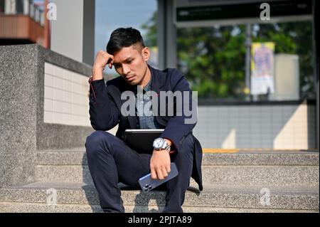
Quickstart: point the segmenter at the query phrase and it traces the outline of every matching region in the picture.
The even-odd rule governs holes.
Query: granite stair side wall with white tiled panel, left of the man
[[[0,62],[0,186],[26,184],[35,176],[36,150],[83,147],[85,138],[93,131],[90,125],[83,126],[81,121],[70,125],[58,117],[62,122],[48,122],[45,114],[45,106],[47,108],[48,105],[46,87],[54,87],[60,80],[73,81],[71,89],[75,90],[71,91],[85,97],[85,86],[79,88],[74,85],[84,83],[91,74],[91,68],[38,45],[0,46]],[[53,73],[55,79],[51,80],[51,85],[48,83],[50,70],[47,64],[58,72]],[[63,85],[68,88],[68,84],[62,83],[61,93]],[[46,95],[51,100],[55,98]],[[65,103],[88,102],[85,98],[79,101],[78,97],[73,100],[73,95],[70,99],[61,98]],[[88,106],[82,105],[84,107],[78,110],[78,115],[87,116]],[[55,114],[63,112],[63,108],[62,105],[62,110],[54,109]]]

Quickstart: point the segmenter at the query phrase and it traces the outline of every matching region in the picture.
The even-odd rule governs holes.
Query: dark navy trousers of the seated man
[[[139,188],[138,180],[150,173],[151,154],[139,154],[109,132],[95,131],[85,142],[87,162],[100,206],[105,212],[124,212],[118,183]],[[188,135],[179,152],[171,154],[178,176],[166,183],[164,212],[183,212],[193,165],[193,137]]]

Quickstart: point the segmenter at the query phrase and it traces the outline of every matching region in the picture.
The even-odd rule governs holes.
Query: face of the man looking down
[[[148,65],[146,65],[146,60],[148,59],[148,48],[143,48],[137,44],[137,46],[124,47],[114,53],[113,65],[117,73],[127,83],[130,85],[141,85],[148,68]]]

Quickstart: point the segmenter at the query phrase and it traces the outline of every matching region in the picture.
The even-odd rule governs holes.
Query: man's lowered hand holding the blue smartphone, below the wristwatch
[[[171,141],[166,139],[166,142],[171,146]],[[170,169],[171,159],[170,154],[165,149],[152,153],[150,159],[151,179],[165,179],[168,176]]]

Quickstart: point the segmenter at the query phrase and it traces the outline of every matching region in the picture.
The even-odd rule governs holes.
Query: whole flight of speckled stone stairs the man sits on
[[[85,148],[38,151],[37,160],[35,183],[0,189],[0,212],[101,212]],[[191,181],[183,211],[319,212],[319,152],[203,154],[203,185],[199,193]],[[159,212],[164,197],[122,185],[126,212]]]

